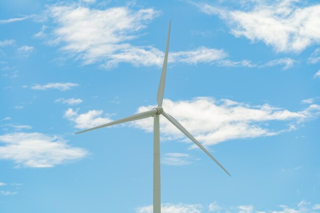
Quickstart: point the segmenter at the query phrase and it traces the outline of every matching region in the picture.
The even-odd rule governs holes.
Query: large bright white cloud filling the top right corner
[[[263,41],[277,52],[301,52],[307,46],[320,43],[320,5],[301,7],[299,3],[299,0],[256,1],[253,8],[247,10],[193,4],[204,13],[219,15],[236,37]]]

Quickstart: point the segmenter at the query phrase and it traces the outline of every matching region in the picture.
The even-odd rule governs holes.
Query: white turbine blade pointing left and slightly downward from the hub
[[[116,124],[122,124],[122,123],[130,122],[130,121],[146,119],[147,117],[151,117],[152,115],[156,114],[157,112],[158,112],[157,109],[151,109],[151,110],[146,111],[146,112],[141,112],[141,113],[138,113],[138,114],[134,114],[134,115],[125,117],[124,119],[113,121],[113,122],[110,122],[110,123],[107,123],[107,124],[103,124],[103,125],[100,125],[100,126],[97,126],[97,127],[93,127],[93,128],[90,128],[90,129],[86,129],[86,130],[77,132],[75,134],[80,134],[80,133],[83,133],[83,132],[88,132],[88,131],[91,131],[91,130],[100,129],[100,128],[103,128],[103,127],[108,127],[108,126],[112,126],[112,125],[116,125]]]

